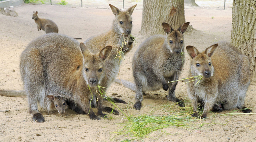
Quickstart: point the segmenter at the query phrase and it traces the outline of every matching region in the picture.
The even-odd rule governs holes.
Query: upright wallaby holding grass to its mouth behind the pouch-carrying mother
[[[121,10],[109,4],[113,14],[115,15],[111,30],[107,33],[90,37],[84,42],[85,46],[88,47],[94,54],[103,49],[105,46],[112,46],[112,51],[105,61],[106,75],[103,81],[99,84],[100,86],[104,87],[103,90],[105,92],[119,72],[120,61],[119,58],[116,58],[118,51],[123,51],[124,54],[126,54],[126,52],[132,48],[134,39],[130,36],[132,29],[131,14],[136,5],[128,8],[127,10]],[[114,98],[114,100],[118,103],[126,103],[118,98]],[[92,102],[95,104],[96,99],[92,100]]]

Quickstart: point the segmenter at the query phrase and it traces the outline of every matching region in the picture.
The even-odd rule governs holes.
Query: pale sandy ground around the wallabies
[[[79,5],[63,7],[58,5],[30,5],[25,4],[12,8],[18,13],[18,17],[11,17],[0,14],[0,89],[1,90],[23,90],[23,83],[20,78],[19,58],[21,52],[28,43],[43,35],[43,31],[38,31],[32,12],[38,11],[39,16],[53,20],[59,28],[59,33],[71,37],[87,38],[104,33],[111,27],[114,15],[108,8],[108,3],[113,2],[117,7],[122,7],[121,2],[103,1],[105,6],[99,9],[97,6],[84,4],[84,8]],[[225,40],[230,41],[232,25],[232,2],[228,1],[226,10],[220,1],[219,5],[210,7],[212,3],[199,1],[199,8],[185,7],[185,19],[195,28],[192,32],[184,33],[185,46],[193,45],[201,51],[213,43]],[[136,1],[126,4],[126,8],[134,5]],[[100,5],[100,7],[102,7]],[[94,8],[86,8],[94,7]],[[137,8],[132,14],[133,29],[132,35],[136,37],[136,45],[126,55],[122,62],[120,78],[133,81],[131,70],[131,59],[138,45],[147,38],[140,35],[142,17],[142,2],[138,2]],[[149,27],[150,28],[150,27]],[[186,51],[185,51],[186,52]],[[185,55],[186,61],[180,78],[185,78],[189,70],[189,57]],[[176,87],[176,96],[189,100],[186,84],[179,82]],[[256,112],[256,86],[250,85],[245,99],[245,105]],[[180,108],[174,103],[166,100],[167,92],[163,90],[147,92],[144,95],[142,109],[140,111],[132,109],[135,93],[127,88],[113,83],[108,89],[107,95],[113,93],[121,95],[128,104],[117,104],[124,113],[129,115],[171,115],[164,111],[163,105],[169,104],[175,111]],[[108,114],[112,119],[90,120],[88,115],[77,115],[68,109],[66,115],[61,117],[56,111],[47,115],[44,110],[40,110],[45,117],[44,123],[32,121],[28,114],[28,103],[26,98],[0,96],[0,110],[9,109],[9,112],[0,112],[0,141],[121,141],[132,139],[129,135],[116,135],[118,129],[123,128],[122,119],[124,115],[115,116]],[[188,101],[187,101],[188,102]],[[108,102],[104,103],[110,106]],[[191,106],[190,103],[186,104]],[[153,113],[151,110],[153,110]],[[239,112],[239,111],[238,111]],[[145,142],[170,142],[170,141],[256,141],[256,116],[221,116],[221,114],[231,113],[225,110],[218,113],[208,114],[209,118],[194,122],[195,129],[183,129],[178,127],[168,127],[151,133]],[[210,124],[208,124],[210,123]],[[205,124],[202,127],[198,127]],[[207,125],[208,124],[208,125]],[[224,131],[227,130],[227,131]],[[169,134],[167,134],[169,133]],[[141,140],[135,140],[141,141]]]

